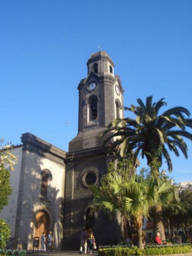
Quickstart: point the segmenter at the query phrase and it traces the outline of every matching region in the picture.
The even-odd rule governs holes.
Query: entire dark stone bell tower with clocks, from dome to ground
[[[93,228],[97,244],[114,244],[119,239],[118,221],[105,213],[90,214],[91,185],[107,172],[114,156],[108,155],[101,133],[115,118],[123,118],[123,88],[114,73],[110,56],[99,51],[87,62],[88,75],[80,80],[78,134],[69,143],[66,165],[64,246],[78,246],[79,233]],[[103,228],[104,227],[104,228]]]

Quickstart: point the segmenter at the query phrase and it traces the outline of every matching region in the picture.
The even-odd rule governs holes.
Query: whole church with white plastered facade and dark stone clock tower
[[[14,146],[13,194],[0,217],[11,226],[9,247],[32,249],[33,239],[52,231],[53,248],[77,248],[79,234],[92,227],[98,245],[120,239],[120,219],[90,212],[90,185],[99,185],[114,155],[103,146],[101,133],[115,118],[123,118],[123,88],[110,56],[99,51],[87,62],[88,75],[78,84],[78,134],[69,152],[25,133]]]

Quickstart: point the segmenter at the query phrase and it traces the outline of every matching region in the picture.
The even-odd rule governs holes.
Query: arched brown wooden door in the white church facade
[[[47,234],[49,231],[49,226],[50,226],[50,217],[47,211],[45,210],[40,210],[36,214],[36,221],[35,221],[35,237],[40,237],[42,236],[42,233],[46,233],[46,238]]]

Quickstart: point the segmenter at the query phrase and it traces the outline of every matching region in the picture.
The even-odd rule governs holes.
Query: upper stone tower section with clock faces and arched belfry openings
[[[88,76],[78,85],[78,135],[69,144],[70,152],[102,146],[101,132],[115,118],[123,117],[123,88],[114,66],[103,51],[89,58]]]

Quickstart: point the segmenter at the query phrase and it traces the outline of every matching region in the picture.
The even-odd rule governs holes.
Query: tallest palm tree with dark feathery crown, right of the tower
[[[186,131],[186,127],[192,127],[190,113],[182,106],[166,110],[159,115],[162,106],[166,105],[164,98],[157,102],[152,102],[153,97],[146,98],[146,104],[141,99],[137,99],[138,106],[131,105],[125,108],[136,115],[136,120],[132,118],[115,119],[108,125],[103,135],[108,134],[105,141],[111,141],[111,150],[115,148],[121,156],[126,156],[134,151],[136,159],[141,152],[141,157],[146,157],[147,165],[151,167],[152,174],[158,174],[165,158],[168,170],[173,170],[172,160],[169,151],[173,151],[179,156],[180,150],[187,158],[187,145],[183,138],[192,140],[192,134]],[[186,118],[186,117],[187,118]],[[164,226],[162,223],[161,205],[156,206],[156,231],[160,232],[161,238],[165,239]]]

